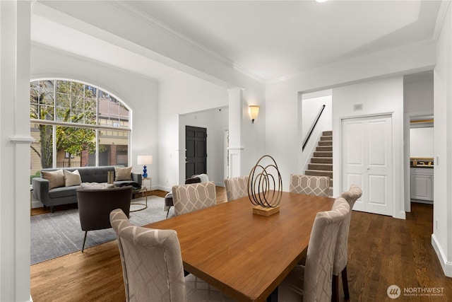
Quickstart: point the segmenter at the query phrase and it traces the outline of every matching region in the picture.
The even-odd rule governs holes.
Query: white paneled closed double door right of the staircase
[[[362,188],[354,210],[393,215],[392,120],[390,115],[342,121],[342,184]]]

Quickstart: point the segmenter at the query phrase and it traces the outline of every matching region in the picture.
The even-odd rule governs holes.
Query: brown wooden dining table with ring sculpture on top
[[[280,211],[261,216],[242,197],[145,227],[177,231],[187,272],[237,301],[265,301],[306,255],[316,213],[333,202],[283,192]]]

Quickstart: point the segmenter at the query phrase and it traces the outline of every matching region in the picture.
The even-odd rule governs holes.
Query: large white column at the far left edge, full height
[[[0,1],[0,301],[30,301],[30,6]]]

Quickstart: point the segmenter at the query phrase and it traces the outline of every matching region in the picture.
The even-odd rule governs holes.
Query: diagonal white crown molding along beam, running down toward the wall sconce
[[[204,45],[201,45],[201,43],[197,42],[196,40],[191,39],[191,37],[184,35],[183,33],[179,32],[178,30],[171,28],[169,25],[163,23],[162,21],[157,20],[153,16],[150,16],[148,13],[144,13],[143,11],[138,10],[132,4],[127,3],[127,1],[108,0],[107,3],[111,4],[112,6],[116,6],[121,11],[125,11],[126,13],[129,13],[131,16],[138,18],[139,20],[144,21],[145,23],[148,23],[149,25],[153,26],[154,28],[157,28],[158,30],[162,31],[162,33],[170,35],[171,37],[174,37],[177,40],[186,43],[187,45],[194,46],[194,47],[198,48],[199,50],[202,50],[203,52],[208,53],[211,57],[218,60],[222,64],[232,67],[233,69],[241,72],[242,74],[245,74],[246,76],[251,77],[251,79],[254,79],[261,83],[266,83],[266,79],[263,79],[261,76],[258,76],[257,74],[254,74],[252,71],[249,71],[248,69],[244,68],[243,66],[240,66],[239,64],[234,63],[232,61],[232,59],[229,59],[229,58],[223,56],[222,54],[219,54],[218,52],[210,50],[210,48],[208,48]]]

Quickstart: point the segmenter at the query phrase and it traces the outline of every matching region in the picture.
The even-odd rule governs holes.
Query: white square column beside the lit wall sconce
[[[241,175],[242,168],[242,120],[243,120],[243,88],[234,87],[229,93],[229,177]]]

